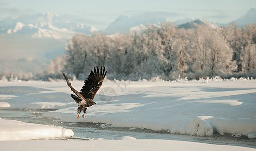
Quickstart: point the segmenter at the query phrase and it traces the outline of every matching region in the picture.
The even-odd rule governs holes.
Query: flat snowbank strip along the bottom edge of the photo
[[[255,150],[254,148],[216,145],[199,142],[161,140],[161,139],[130,139],[130,140],[24,140],[2,141],[2,150]]]

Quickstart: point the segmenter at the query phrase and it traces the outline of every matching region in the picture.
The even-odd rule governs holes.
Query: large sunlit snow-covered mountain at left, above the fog
[[[70,39],[76,32],[90,34],[94,27],[73,23],[54,13],[26,15],[0,21],[1,34],[22,34],[33,38]]]

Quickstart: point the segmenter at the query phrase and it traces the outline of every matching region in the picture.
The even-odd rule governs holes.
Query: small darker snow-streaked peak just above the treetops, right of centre
[[[208,25],[208,26],[210,26],[213,29],[216,29],[216,28],[219,27],[218,25],[216,25],[214,23],[209,23],[209,22],[207,22],[207,21],[205,21],[203,19],[197,19],[197,20],[193,20],[191,22],[187,22],[187,23],[178,25],[177,28],[185,28],[185,29],[196,28],[197,25]]]

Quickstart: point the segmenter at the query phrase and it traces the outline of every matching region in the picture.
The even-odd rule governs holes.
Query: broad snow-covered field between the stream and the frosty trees
[[[102,128],[109,126],[131,127],[131,130],[147,128],[198,136],[211,136],[214,132],[218,132],[220,134],[236,134],[237,136],[246,135],[248,138],[256,137],[255,80],[107,81],[103,83],[102,88],[95,96],[97,104],[89,107],[86,117],[80,119],[77,119],[78,106],[70,97],[72,92],[64,81],[0,83],[1,108],[57,109],[44,112],[42,116],[57,118],[64,122],[105,123],[101,125]],[[81,81],[71,83],[78,90],[83,86]],[[0,126],[5,127],[3,119],[0,120]],[[50,126],[50,128],[56,131],[57,129],[67,130],[62,127]],[[10,130],[10,132],[14,131]],[[69,131],[68,134],[71,132]],[[129,141],[134,145],[158,142],[158,140]],[[31,141],[22,143],[29,142]],[[39,143],[40,140],[34,142]],[[95,145],[108,142],[109,144],[118,142],[117,146],[122,146],[124,143],[117,140],[93,141]],[[162,140],[161,142],[174,143],[174,141]],[[16,143],[21,144],[21,142]],[[47,141],[40,143],[50,144]],[[61,145],[59,141],[56,143]],[[76,143],[79,145],[80,142]],[[186,143],[190,145],[190,142]],[[199,144],[195,143],[195,146]],[[4,144],[1,143],[1,145]],[[210,146],[209,144],[207,147],[214,148],[214,145]],[[217,150],[216,147],[215,149]]]

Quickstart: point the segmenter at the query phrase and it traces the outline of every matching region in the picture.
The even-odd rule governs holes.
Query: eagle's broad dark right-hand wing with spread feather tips
[[[102,71],[102,66],[100,66],[100,71],[99,71],[99,67],[98,66],[96,67],[97,67],[97,71],[94,67],[94,72],[91,71],[91,73],[89,74],[89,77],[85,80],[85,85],[80,90],[80,94],[82,94],[86,99],[93,100],[97,91],[100,89],[107,73],[107,71],[105,72],[105,67],[103,68],[103,71]]]

